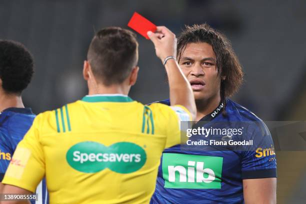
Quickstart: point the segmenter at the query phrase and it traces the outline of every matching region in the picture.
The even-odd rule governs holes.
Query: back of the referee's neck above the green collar
[[[97,85],[94,87],[89,88],[88,95],[94,95],[94,94],[123,94],[127,95],[129,91],[128,87],[125,87],[123,85],[110,85],[110,86],[104,86],[104,85]]]

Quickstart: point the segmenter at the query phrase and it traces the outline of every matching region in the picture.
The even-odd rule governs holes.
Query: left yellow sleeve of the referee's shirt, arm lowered
[[[18,143],[2,183],[35,192],[45,172],[39,135],[41,116],[40,114],[34,119],[32,126]]]

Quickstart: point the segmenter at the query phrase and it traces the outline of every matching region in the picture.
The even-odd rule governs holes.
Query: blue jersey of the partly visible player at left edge
[[[32,125],[34,117],[35,114],[30,108],[10,107],[0,112],[0,181],[17,144]],[[36,193],[38,194],[36,203],[48,203],[45,179],[37,186]]]

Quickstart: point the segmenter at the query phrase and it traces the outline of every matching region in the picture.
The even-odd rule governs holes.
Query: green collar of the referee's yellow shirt
[[[94,94],[85,95],[82,98],[85,102],[131,102],[133,101],[130,97],[123,94]]]

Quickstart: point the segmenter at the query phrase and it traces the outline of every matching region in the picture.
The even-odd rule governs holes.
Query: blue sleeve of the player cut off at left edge
[[[0,182],[2,182],[12,152],[10,139],[4,132],[0,131]]]

